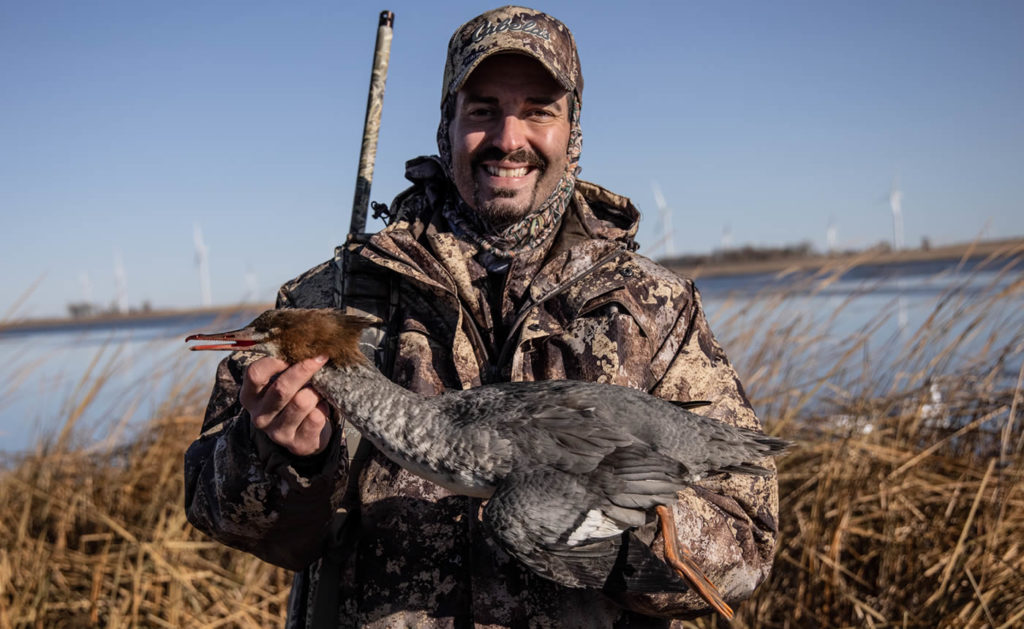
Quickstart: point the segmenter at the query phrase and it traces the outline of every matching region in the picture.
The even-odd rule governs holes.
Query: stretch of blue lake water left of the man
[[[186,351],[186,335],[251,319],[181,314],[0,334],[0,451],[55,435],[77,408],[83,411],[76,429],[86,443],[124,438],[169,397],[208,392],[223,354]]]

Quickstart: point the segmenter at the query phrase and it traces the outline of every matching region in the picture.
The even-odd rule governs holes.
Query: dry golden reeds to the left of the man
[[[0,471],[0,628],[282,625],[290,574],[185,520],[182,456],[199,432],[208,373],[196,385],[182,361],[181,385],[136,433],[79,444],[89,431],[80,419],[119,360],[106,349],[67,401],[56,434]]]

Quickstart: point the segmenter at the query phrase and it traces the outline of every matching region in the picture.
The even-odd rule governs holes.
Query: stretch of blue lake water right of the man
[[[989,375],[993,365],[993,386],[1013,386],[1024,360],[1020,260],[865,265],[835,278],[763,275],[697,284],[713,330],[756,394],[791,388],[794,399],[812,391],[808,406],[827,408],[829,401],[907,387],[941,397],[962,378]],[[764,346],[784,370],[758,363]]]

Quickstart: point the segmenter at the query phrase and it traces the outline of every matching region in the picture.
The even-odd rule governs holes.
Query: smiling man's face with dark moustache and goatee
[[[496,54],[456,94],[450,135],[459,195],[504,227],[540,207],[565,172],[568,92],[539,61]]]

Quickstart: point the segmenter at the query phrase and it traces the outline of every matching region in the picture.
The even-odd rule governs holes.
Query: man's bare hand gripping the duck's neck
[[[319,454],[331,438],[327,403],[307,386],[326,362],[317,357],[289,367],[266,357],[250,365],[242,379],[239,400],[253,424],[298,456]]]

